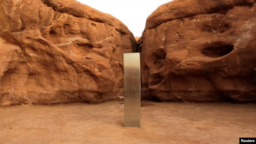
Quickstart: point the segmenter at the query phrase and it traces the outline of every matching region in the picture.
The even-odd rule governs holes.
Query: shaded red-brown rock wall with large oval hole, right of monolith
[[[139,44],[144,98],[255,101],[255,3],[174,0],[158,7]]]

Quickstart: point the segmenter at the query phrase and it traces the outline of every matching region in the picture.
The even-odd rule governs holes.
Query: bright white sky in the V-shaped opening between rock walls
[[[147,17],[172,0],[77,0],[121,20],[135,37],[140,37]]]

